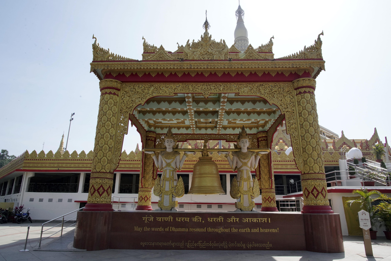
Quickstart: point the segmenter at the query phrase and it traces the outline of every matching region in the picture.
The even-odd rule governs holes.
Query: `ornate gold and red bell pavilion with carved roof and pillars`
[[[300,216],[304,230],[300,241],[305,238],[306,242],[301,247],[319,252],[343,251],[339,216],[329,215],[333,212],[327,196],[315,102],[315,78],[324,69],[320,35],[314,45],[280,59],[274,59],[271,46],[270,39],[258,48],[249,45],[241,54],[235,46],[228,48],[225,41],[212,40],[206,28],[200,41],[188,41],[175,52],[144,40],[143,61],[137,61],[111,54],[95,41],[91,71],[100,80],[101,96],[88,203],[78,219],[90,228],[79,226],[75,245],[84,242],[87,236],[83,232],[89,231],[101,235],[91,238],[90,250],[109,247],[114,217],[110,214],[113,173],[129,122],[141,134],[143,149],[159,146],[169,125],[178,141],[203,140],[205,136],[236,141],[244,125],[252,144],[270,148],[277,126],[285,119],[301,172],[302,213],[326,214]],[[235,104],[230,111],[229,106]],[[257,167],[265,213],[276,210],[269,157],[263,155]],[[142,159],[137,210],[151,210],[156,168],[149,154],[143,152]],[[144,218],[149,222],[148,217]],[[336,227],[336,231],[328,227]],[[118,227],[117,232],[121,232]]]

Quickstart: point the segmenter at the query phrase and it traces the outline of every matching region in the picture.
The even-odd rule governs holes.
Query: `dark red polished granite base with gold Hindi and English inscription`
[[[341,246],[323,247],[341,227],[324,234],[311,232],[311,216],[262,212],[79,212],[74,247],[103,249],[181,250],[310,250],[343,252]],[[336,216],[339,215],[320,215]],[[329,218],[324,217],[326,220]],[[305,224],[306,219],[308,224]],[[334,220],[334,218],[332,218]],[[330,222],[326,222],[328,225]],[[319,223],[319,227],[323,227]],[[310,226],[312,227],[312,226]],[[307,240],[309,237],[310,240]],[[338,240],[336,240],[338,242]],[[309,247],[309,244],[316,245]]]

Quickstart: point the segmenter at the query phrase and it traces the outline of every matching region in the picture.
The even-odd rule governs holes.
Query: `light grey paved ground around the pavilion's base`
[[[30,226],[29,240],[24,248],[27,226]],[[46,227],[46,226],[45,226]],[[49,227],[49,226],[48,226]],[[100,261],[100,260],[225,260],[234,261],[317,261],[317,260],[388,260],[391,261],[391,241],[378,237],[372,241],[374,257],[366,257],[361,237],[344,237],[345,253],[315,253],[308,251],[211,251],[211,250],[101,250],[83,251],[72,247],[74,227],[67,228],[63,237],[54,237],[42,242],[38,249],[41,224],[1,224],[0,225],[0,261],[43,260],[43,261]],[[45,232],[48,233],[49,231]],[[57,236],[57,235],[55,235]],[[59,236],[59,235],[58,235]]]

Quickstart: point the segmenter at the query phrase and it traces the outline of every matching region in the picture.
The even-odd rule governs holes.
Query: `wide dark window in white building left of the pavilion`
[[[79,184],[79,173],[36,173],[30,179],[27,192],[75,193]]]

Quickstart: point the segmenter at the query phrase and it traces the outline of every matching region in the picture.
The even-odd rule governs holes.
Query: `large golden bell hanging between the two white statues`
[[[187,194],[226,194],[221,188],[217,164],[210,156],[202,156],[194,164],[191,188]]]

